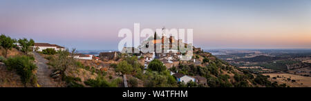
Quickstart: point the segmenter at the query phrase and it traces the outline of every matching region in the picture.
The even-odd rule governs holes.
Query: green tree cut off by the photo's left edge
[[[8,49],[11,49],[12,47],[14,47],[14,41],[12,40],[12,38],[10,38],[10,36],[6,36],[4,34],[1,34],[0,41],[1,41],[0,42],[1,46],[6,51],[4,56],[7,58],[7,56],[8,56]]]

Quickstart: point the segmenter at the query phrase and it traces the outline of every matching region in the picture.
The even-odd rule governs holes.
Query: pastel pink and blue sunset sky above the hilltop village
[[[0,33],[77,49],[117,49],[122,28],[192,28],[194,45],[311,48],[310,0],[0,0]]]

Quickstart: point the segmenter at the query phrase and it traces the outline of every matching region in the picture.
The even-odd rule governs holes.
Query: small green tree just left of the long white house
[[[18,43],[21,46],[21,52],[23,52],[24,54],[32,51],[32,49],[30,49],[30,46],[35,45],[35,41],[33,41],[32,39],[28,41],[27,38],[19,39]]]

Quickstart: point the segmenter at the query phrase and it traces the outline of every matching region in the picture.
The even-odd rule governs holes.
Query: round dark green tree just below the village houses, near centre
[[[154,59],[149,63],[148,69],[150,69],[151,71],[160,72],[160,71],[164,71],[165,69],[167,69],[167,67],[165,67],[160,60]]]

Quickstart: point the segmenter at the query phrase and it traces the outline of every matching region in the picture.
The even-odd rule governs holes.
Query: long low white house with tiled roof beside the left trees
[[[55,45],[55,44],[50,44],[50,43],[35,43],[33,50],[37,50],[38,52],[42,52],[44,49],[52,48],[55,49],[56,51],[58,50],[65,50],[65,47]]]

